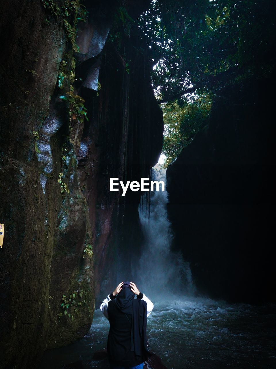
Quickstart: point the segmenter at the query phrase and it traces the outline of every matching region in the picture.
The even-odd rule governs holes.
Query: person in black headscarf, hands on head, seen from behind
[[[143,368],[151,355],[146,341],[146,320],[152,309],[151,300],[133,282],[121,282],[103,300],[100,310],[110,323],[107,353],[111,369]]]

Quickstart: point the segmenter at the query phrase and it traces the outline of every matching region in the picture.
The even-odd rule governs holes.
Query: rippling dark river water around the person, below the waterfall
[[[167,368],[276,368],[275,306],[185,297],[153,303],[148,343]],[[108,331],[109,322],[96,310],[89,333],[46,351],[41,368],[61,369],[80,360],[83,368],[108,368],[92,360],[95,351],[106,347]]]

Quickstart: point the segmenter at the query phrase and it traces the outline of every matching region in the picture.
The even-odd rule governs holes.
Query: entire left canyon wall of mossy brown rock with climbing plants
[[[148,3],[125,2],[121,11],[135,18]],[[56,16],[52,4],[1,3],[3,368],[34,367],[46,348],[88,331],[100,281],[112,276],[126,238],[121,230],[127,224],[140,237],[140,194],[110,193],[109,177],[148,177],[162,147],[143,37],[118,23],[118,43],[110,31],[121,4],[86,1],[78,53],[66,32],[71,18]],[[59,97],[68,96],[72,79],[89,121],[70,117]]]

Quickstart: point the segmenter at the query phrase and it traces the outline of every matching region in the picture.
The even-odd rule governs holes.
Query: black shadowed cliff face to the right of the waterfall
[[[272,294],[275,195],[269,81],[225,89],[209,125],[167,169],[174,248],[191,262],[199,292],[262,302]]]

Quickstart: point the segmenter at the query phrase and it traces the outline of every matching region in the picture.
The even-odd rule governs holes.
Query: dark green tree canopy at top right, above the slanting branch
[[[274,65],[271,11],[262,0],[153,0],[140,27],[160,100],[180,98],[192,86],[216,93],[230,83],[267,76]]]

